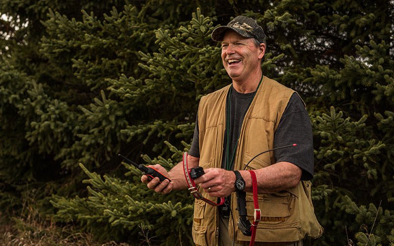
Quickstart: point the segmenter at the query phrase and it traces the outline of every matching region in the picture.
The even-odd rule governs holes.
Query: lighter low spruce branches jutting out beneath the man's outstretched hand
[[[170,147],[176,152],[173,156],[179,159],[182,152],[173,146]],[[173,166],[171,159],[159,157],[152,160],[149,156],[145,156],[144,159],[148,164],[159,163],[168,168]],[[186,191],[173,192],[168,196],[154,193],[141,185],[138,169],[127,163],[124,165],[130,170],[126,176],[131,176],[131,182],[107,175],[101,177],[80,164],[89,177],[88,180],[84,180],[84,183],[89,185],[89,195],[87,198],[77,196],[73,199],[53,196],[51,203],[59,210],[55,218],[80,223],[86,230],[94,229],[102,240],[120,241],[137,238],[140,233],[138,228],[142,225],[144,229],[155,232],[155,237],[159,239],[152,239],[155,244],[191,244],[191,196]],[[125,233],[125,230],[130,233]],[[168,237],[168,234],[179,237]]]

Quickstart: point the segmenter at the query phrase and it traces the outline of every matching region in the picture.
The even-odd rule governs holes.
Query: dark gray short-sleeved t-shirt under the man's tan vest
[[[230,159],[236,148],[236,142],[242,127],[246,111],[253,99],[254,92],[239,93],[232,89],[230,107]],[[228,94],[229,96],[229,94]],[[226,112],[228,111],[228,100]],[[225,132],[226,136],[226,132]],[[222,168],[226,166],[227,138],[224,138]],[[274,148],[296,143],[296,147],[274,151],[276,162],[291,162],[302,169],[301,180],[311,180],[314,173],[312,124],[301,98],[294,93],[279,122],[274,136]],[[192,146],[189,154],[199,157],[198,119],[194,130]],[[232,167],[231,167],[232,169]]]

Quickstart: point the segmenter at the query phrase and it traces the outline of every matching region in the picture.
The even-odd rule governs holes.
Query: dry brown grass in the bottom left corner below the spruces
[[[0,211],[0,246],[150,246],[149,230],[140,227],[135,242],[102,243],[89,233],[81,232],[72,224],[63,225],[43,218],[38,212],[34,193],[22,199],[22,209],[3,214]]]

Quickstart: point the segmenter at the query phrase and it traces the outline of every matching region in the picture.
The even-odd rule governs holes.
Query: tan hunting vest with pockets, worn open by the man
[[[226,97],[230,85],[201,98],[198,107],[199,130],[199,166],[202,168],[222,165],[223,140],[226,128]],[[234,170],[242,170],[253,156],[274,148],[274,134],[290,100],[293,90],[264,76],[263,82],[250,105],[240,132],[238,147],[234,160]],[[250,169],[260,169],[275,163],[273,152],[262,154],[250,164]],[[204,193],[205,197],[216,201]],[[253,222],[253,194],[247,192],[247,214]],[[311,200],[311,183],[301,181],[292,189],[273,193],[259,194],[259,206],[262,220],[259,222],[256,235],[257,242],[295,242],[305,236],[317,238],[323,228],[317,221]],[[231,211],[238,221],[235,192],[231,197]],[[234,238],[233,222],[230,216],[229,233]],[[218,245],[218,211],[217,207],[195,200],[193,240],[198,246]],[[250,241],[237,228],[235,239]]]

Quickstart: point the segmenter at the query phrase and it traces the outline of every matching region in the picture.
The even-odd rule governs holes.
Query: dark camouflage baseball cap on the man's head
[[[227,26],[217,27],[212,31],[212,40],[216,42],[223,41],[223,36],[226,31],[232,30],[239,35],[250,38],[254,37],[260,43],[265,43],[265,33],[263,28],[257,24],[255,19],[246,16],[237,16],[227,24]]]

